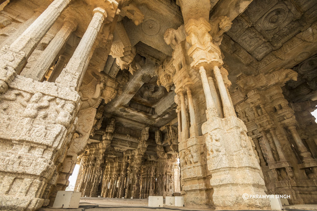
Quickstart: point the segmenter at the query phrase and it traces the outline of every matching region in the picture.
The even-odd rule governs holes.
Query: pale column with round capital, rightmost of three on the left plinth
[[[60,76],[56,79],[56,84],[60,84],[64,87],[70,87],[75,90],[79,89],[82,77],[85,74],[83,71],[84,66],[105,17],[107,17],[107,13],[104,9],[99,7],[94,9],[94,16],[85,34],[81,38],[81,41],[68,64],[63,69]]]

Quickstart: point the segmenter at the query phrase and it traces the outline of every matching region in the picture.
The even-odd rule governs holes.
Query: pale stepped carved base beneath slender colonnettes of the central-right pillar
[[[268,199],[243,199],[243,194],[266,195],[261,168],[247,129],[235,116],[208,119],[202,125],[205,136],[212,199],[216,209],[263,209]]]

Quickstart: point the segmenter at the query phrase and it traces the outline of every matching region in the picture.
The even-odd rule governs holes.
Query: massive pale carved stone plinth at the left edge
[[[74,127],[79,95],[16,76],[0,96],[0,209],[36,210]],[[50,182],[52,181],[52,182]]]

